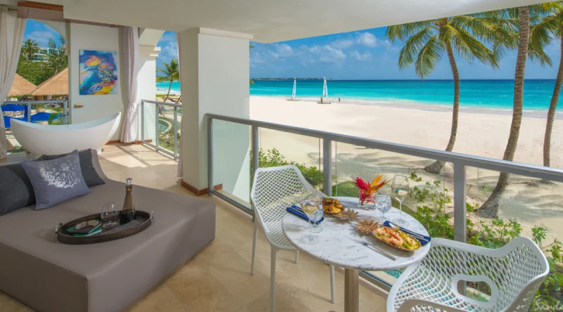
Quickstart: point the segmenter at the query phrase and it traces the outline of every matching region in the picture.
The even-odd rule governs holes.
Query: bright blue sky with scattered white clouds
[[[250,51],[251,78],[418,79],[414,67],[399,69],[398,53],[402,44],[388,41],[385,31],[386,27],[380,27],[274,44],[252,42],[255,48]],[[42,22],[27,21],[24,39],[34,39],[40,47],[46,47],[50,37],[58,43],[58,36],[56,30]],[[156,60],[158,67],[177,58],[175,32],[165,32],[158,46],[161,48]],[[553,41],[546,51],[554,67],[528,62],[526,79],[555,79],[559,42]],[[457,58],[461,79],[514,79],[515,64],[515,51],[500,60],[499,69],[479,63],[469,64]],[[448,60],[442,59],[426,79],[452,79]]]

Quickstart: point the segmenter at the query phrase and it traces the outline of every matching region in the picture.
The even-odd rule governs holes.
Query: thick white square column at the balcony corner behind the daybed
[[[182,159],[184,182],[207,188],[206,113],[248,118],[248,34],[197,28],[180,33],[182,67]],[[248,200],[248,126],[213,124],[214,184]]]

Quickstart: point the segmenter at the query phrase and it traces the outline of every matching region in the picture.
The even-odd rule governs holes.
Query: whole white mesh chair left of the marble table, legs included
[[[310,186],[301,172],[293,164],[281,167],[258,168],[254,175],[251,198],[255,211],[254,242],[252,247],[251,275],[254,275],[256,257],[256,240],[258,239],[258,223],[262,226],[270,246],[272,247],[272,264],[270,268],[270,311],[274,311],[274,294],[276,285],[276,254],[279,249],[296,250],[295,263],[299,251],[294,247],[281,230],[281,219],[286,208],[298,204],[303,198],[303,188]],[[320,196],[326,196],[319,192]],[[334,266],[330,266],[331,302],[334,304]]]

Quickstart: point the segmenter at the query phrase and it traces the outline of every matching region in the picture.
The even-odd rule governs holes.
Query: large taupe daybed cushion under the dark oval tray
[[[125,183],[106,180],[93,193],[50,209],[0,217],[0,290],[37,311],[122,311],[215,238],[215,203],[135,186],[138,210],[154,211],[143,232],[94,245],[63,245],[59,222],[123,202]]]

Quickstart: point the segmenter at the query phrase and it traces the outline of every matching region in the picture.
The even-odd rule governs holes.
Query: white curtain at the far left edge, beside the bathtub
[[[4,102],[13,84],[26,21],[16,18],[15,11],[0,6],[0,103]],[[0,106],[0,159],[6,158],[7,150],[4,112]]]

